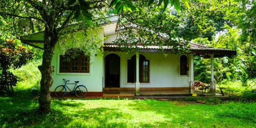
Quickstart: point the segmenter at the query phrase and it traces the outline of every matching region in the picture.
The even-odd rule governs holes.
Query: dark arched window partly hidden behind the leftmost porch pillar
[[[127,82],[134,83],[136,81],[136,55],[128,59],[127,66]],[[149,60],[141,54],[139,54],[139,82],[149,83]]]

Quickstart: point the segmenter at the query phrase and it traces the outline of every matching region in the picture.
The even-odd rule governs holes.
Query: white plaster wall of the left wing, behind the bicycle
[[[98,35],[103,39],[103,30],[98,30]],[[89,35],[88,38],[91,36]],[[103,42],[102,42],[103,43]],[[52,59],[52,65],[54,66],[53,72],[53,85],[51,91],[58,85],[63,85],[63,79],[70,80],[69,83],[75,83],[74,81],[79,81],[78,85],[85,85],[88,92],[102,92],[103,89],[103,67],[104,60],[103,55],[93,53],[90,56],[90,72],[89,73],[60,73],[60,51],[58,45],[55,46],[54,55]],[[67,85],[70,89],[74,88],[74,85]],[[69,91],[69,90],[68,90]]]

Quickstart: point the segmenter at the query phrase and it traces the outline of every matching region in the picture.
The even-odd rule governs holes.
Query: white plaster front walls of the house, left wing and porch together
[[[103,30],[98,30],[97,34],[102,37]],[[91,37],[91,36],[89,36]],[[109,39],[104,40],[104,43],[110,43],[115,38],[114,35]],[[103,43],[103,42],[102,42]],[[135,88],[134,83],[127,83],[127,59],[130,59],[134,54],[127,54],[126,52],[104,52],[104,55],[94,53],[90,57],[90,72],[89,73],[59,73],[59,49],[58,45],[55,46],[52,65],[54,66],[53,72],[53,86],[51,91],[58,85],[63,84],[62,79],[70,80],[70,83],[79,81],[87,87],[89,92],[101,92],[104,85],[104,57],[109,53],[116,53],[120,56],[120,87],[121,88]],[[140,88],[166,88],[166,87],[189,87],[189,76],[179,75],[179,55],[168,54],[165,57],[161,53],[141,53],[150,60],[150,82],[141,83]],[[73,89],[74,85],[68,85]]]

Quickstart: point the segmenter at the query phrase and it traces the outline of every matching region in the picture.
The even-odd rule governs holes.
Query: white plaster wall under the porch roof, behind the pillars
[[[115,52],[105,52],[104,56]],[[127,59],[134,54],[116,52],[120,58],[120,87],[135,88],[135,83],[127,83]],[[149,59],[150,82],[140,83],[140,88],[171,88],[189,87],[189,76],[179,75],[179,55],[168,54],[165,57],[161,53],[141,53]]]

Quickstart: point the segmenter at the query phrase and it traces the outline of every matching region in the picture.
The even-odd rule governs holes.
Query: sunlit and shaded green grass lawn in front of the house
[[[38,115],[29,94],[0,97],[0,127],[35,128],[256,128],[256,103],[204,105],[154,99],[53,99],[52,113]]]

